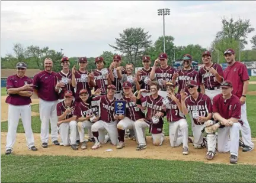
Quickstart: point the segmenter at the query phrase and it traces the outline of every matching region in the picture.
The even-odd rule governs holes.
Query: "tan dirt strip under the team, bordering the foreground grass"
[[[1,133],[1,153],[5,152],[5,140],[7,133]],[[229,153],[217,153],[213,161],[207,161],[205,158],[206,149],[194,149],[192,143],[189,144],[189,155],[182,154],[182,147],[171,148],[168,137],[165,138],[162,146],[153,146],[150,136],[147,137],[148,148],[143,151],[136,151],[136,142],[126,139],[126,147],[116,149],[116,146],[110,143],[104,144],[100,149],[92,150],[92,142],[88,143],[88,149],[73,151],[69,146],[55,146],[49,141],[49,147],[41,148],[40,134],[34,134],[35,142],[39,151],[32,152],[27,150],[24,133],[17,133],[17,140],[14,145],[14,154],[16,155],[66,155],[66,156],[97,156],[103,158],[145,158],[145,159],[165,159],[181,161],[201,161],[216,164],[229,164]],[[107,149],[113,151],[107,152]],[[242,152],[239,149],[239,164],[256,165],[256,150],[252,152]]]

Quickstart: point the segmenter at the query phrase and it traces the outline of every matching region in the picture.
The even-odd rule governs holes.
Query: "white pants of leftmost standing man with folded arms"
[[[18,122],[21,116],[23,122],[23,127],[25,130],[25,137],[27,140],[28,148],[34,146],[34,136],[31,128],[31,106],[14,106],[9,104],[8,106],[8,133],[7,133],[7,144],[5,146],[7,149],[12,149],[16,140],[16,132],[18,127]]]

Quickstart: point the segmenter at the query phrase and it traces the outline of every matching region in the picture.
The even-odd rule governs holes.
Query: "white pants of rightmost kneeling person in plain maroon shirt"
[[[230,151],[231,155],[238,156],[240,128],[240,123],[233,123],[232,126],[219,128],[217,135],[217,149],[219,152],[225,153]]]

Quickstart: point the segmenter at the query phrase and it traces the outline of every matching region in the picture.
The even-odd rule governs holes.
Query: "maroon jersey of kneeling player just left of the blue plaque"
[[[104,122],[114,122],[114,102],[117,100],[115,97],[110,102],[107,95],[96,96],[92,99],[92,106],[100,107],[100,119]]]

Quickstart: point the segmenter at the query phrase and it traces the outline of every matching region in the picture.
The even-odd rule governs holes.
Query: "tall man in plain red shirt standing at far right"
[[[237,96],[241,102],[241,120],[244,125],[241,126],[242,141],[244,142],[243,152],[249,152],[254,149],[254,143],[251,140],[251,128],[247,120],[246,94],[249,84],[249,76],[245,64],[235,61],[235,51],[228,49],[224,52],[228,67],[223,71],[224,80],[232,82],[232,94]]]

